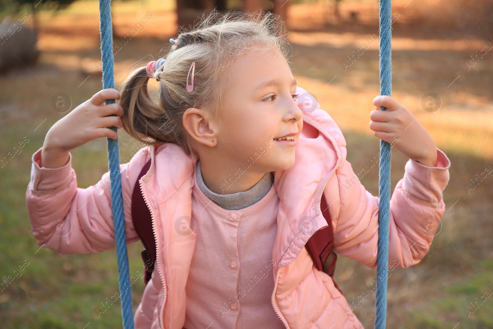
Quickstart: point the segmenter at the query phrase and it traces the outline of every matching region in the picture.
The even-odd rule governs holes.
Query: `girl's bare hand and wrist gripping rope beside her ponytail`
[[[108,127],[123,127],[120,119],[123,109],[116,103],[105,105],[108,99],[119,100],[120,94],[113,88],[100,90],[48,130],[41,150],[43,167],[64,166],[69,160],[68,153],[71,149],[97,138],[117,138],[116,132]]]

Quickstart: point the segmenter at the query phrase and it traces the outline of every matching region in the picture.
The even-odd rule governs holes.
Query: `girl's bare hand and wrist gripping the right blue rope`
[[[373,135],[391,143],[411,160],[428,167],[436,166],[435,141],[410,110],[390,96],[375,97],[373,105],[375,110],[370,112]],[[380,110],[381,106],[387,110]]]

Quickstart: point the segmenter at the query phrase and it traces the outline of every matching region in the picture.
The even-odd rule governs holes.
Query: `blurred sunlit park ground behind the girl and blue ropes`
[[[38,1],[0,0],[0,328],[121,328],[119,300],[103,308],[118,290],[115,249],[60,256],[40,249],[31,230],[31,156],[57,120],[102,89],[98,1]],[[387,328],[493,328],[493,1],[392,2],[392,97],[452,165],[429,253],[391,271]],[[379,152],[368,127],[380,90],[378,1],[113,1],[115,84],[165,54],[180,27],[214,7],[282,16],[298,85],[334,118],[354,172],[369,168],[361,183],[378,195],[378,166],[367,162]],[[156,81],[149,84],[155,91]],[[61,95],[65,102],[56,104]],[[141,147],[123,130],[119,146],[121,162]],[[78,187],[108,170],[106,138],[71,154]],[[392,191],[407,160],[393,149]],[[128,248],[130,274],[137,275],[143,247]],[[365,328],[373,328],[375,279],[375,270],[339,256],[334,280]],[[139,278],[134,310],[143,289]]]

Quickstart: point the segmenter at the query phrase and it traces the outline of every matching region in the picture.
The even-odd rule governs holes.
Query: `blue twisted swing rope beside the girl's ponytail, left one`
[[[114,88],[113,77],[113,28],[111,26],[110,0],[99,1],[99,19],[101,34],[101,63],[103,65],[103,89]],[[115,100],[106,100],[105,104],[114,104]],[[116,132],[116,127],[110,127]],[[127,239],[125,236],[125,221],[123,217],[123,198],[120,177],[120,154],[118,152],[118,137],[116,140],[106,138],[108,151],[108,168],[110,173],[111,206],[115,231],[116,258],[118,262],[118,281],[122,305],[124,329],[134,329],[134,311],[132,307],[132,288],[127,254]]]

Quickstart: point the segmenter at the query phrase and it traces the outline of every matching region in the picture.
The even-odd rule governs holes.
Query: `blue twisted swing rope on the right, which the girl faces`
[[[380,95],[392,96],[392,2],[380,0]],[[387,110],[381,106],[380,110]],[[390,144],[380,140],[377,298],[375,329],[385,329],[387,317],[388,222],[390,203]]]

